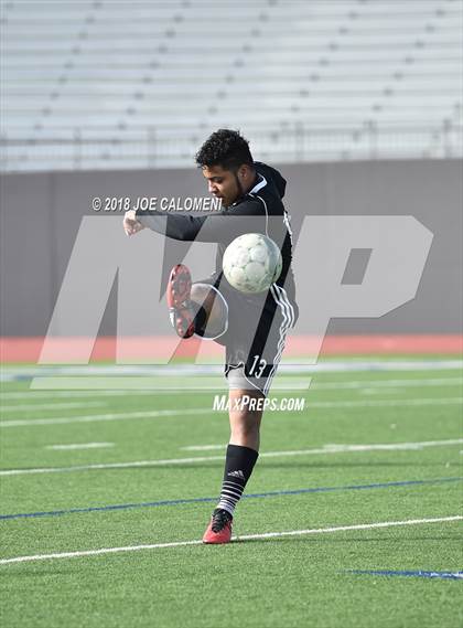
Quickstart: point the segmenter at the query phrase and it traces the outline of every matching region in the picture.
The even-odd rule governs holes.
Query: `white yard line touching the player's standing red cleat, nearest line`
[[[312,528],[308,530],[288,530],[283,532],[265,532],[262,534],[244,534],[233,536],[233,541],[255,541],[265,539],[282,539],[286,536],[303,536],[309,534],[330,534],[333,532],[349,532],[353,530],[375,530],[384,528],[397,528],[401,525],[420,525],[430,523],[450,523],[461,521],[463,517],[434,517],[429,519],[408,519],[405,521],[379,521],[375,523],[358,523],[355,525],[336,525],[331,528]],[[121,552],[139,552],[142,550],[162,550],[166,547],[185,547],[189,545],[201,545],[203,542],[195,539],[193,541],[175,541],[171,543],[152,543],[149,545],[125,545],[122,547],[101,547],[99,550],[83,550],[79,552],[60,552],[55,554],[35,554],[31,556],[14,556],[12,558],[0,560],[0,565],[12,563],[28,563],[36,561],[49,561],[56,558],[78,558],[83,556],[100,556],[103,554],[118,554]]]

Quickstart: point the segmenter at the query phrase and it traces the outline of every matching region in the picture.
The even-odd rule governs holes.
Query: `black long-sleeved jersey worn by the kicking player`
[[[245,233],[268,235],[281,249],[282,270],[276,284],[286,289],[290,301],[295,302],[291,269],[291,224],[282,203],[287,182],[280,172],[270,166],[255,162],[255,167],[257,170],[255,187],[233,205],[223,207],[218,212],[192,216],[173,213],[166,215],[165,212],[157,210],[138,210],[137,217],[144,226],[174,240],[216,242],[217,275],[222,274],[223,256],[233,240]]]

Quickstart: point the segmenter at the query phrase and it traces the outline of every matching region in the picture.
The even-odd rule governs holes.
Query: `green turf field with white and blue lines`
[[[462,370],[434,366],[321,372],[303,412],[267,413],[227,546],[197,543],[228,438],[214,393],[12,377],[2,626],[461,627]]]

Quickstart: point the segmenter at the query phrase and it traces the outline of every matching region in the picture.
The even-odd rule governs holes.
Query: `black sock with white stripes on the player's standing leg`
[[[236,504],[241,498],[246,482],[252,473],[259,454],[249,447],[228,445],[225,460],[224,483],[217,508],[233,515]]]

